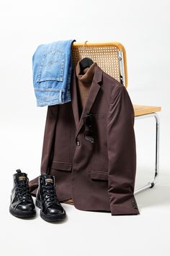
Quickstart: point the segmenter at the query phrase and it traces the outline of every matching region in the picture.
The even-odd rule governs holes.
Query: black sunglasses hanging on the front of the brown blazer
[[[88,128],[88,130],[84,131],[84,137],[87,141],[91,143],[94,143],[93,123],[94,116],[92,114],[87,114],[86,116],[84,116],[84,125]]]

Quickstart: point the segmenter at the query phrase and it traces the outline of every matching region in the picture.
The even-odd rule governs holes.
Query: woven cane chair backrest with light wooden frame
[[[124,85],[128,85],[127,76],[127,64],[126,64],[126,52],[124,46],[117,42],[106,42],[106,43],[91,43],[91,42],[73,42],[72,45],[72,59],[73,67],[81,59],[89,57],[97,65],[111,77],[114,77],[120,82],[120,55],[122,54],[122,65],[124,70]]]

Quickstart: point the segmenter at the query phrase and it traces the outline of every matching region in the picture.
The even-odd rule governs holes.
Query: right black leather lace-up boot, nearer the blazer
[[[40,216],[45,221],[63,221],[66,218],[66,211],[55,193],[55,176],[39,176],[35,205],[41,209]]]

